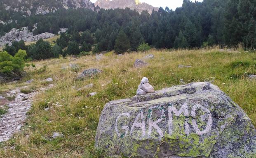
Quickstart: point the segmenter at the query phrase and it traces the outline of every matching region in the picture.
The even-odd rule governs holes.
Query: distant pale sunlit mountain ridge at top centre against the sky
[[[152,13],[152,10],[158,11],[159,8],[153,7],[147,3],[141,3],[139,0],[97,0],[94,3],[95,6],[99,6],[104,9],[126,8],[135,9],[140,13],[143,10],[147,10],[148,13]]]

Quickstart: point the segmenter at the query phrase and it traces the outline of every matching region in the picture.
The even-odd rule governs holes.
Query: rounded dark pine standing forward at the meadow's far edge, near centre
[[[116,53],[124,53],[130,48],[130,41],[122,29],[117,35],[114,48]]]

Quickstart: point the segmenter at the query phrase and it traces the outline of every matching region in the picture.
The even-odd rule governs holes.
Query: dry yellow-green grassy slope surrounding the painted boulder
[[[256,53],[220,53],[214,49],[151,50],[148,53],[153,53],[155,59],[148,60],[149,66],[141,69],[133,68],[133,63],[135,59],[145,56],[142,53],[121,57],[110,53],[101,61],[96,61],[95,56],[87,56],[77,60],[69,58],[36,62],[38,67],[47,65],[47,72],[31,72],[16,85],[1,85],[0,91],[5,91],[34,78],[35,83],[31,86],[40,87],[40,80],[52,77],[57,87],[35,97],[22,132],[0,145],[0,158],[98,157],[99,154],[94,151],[94,135],[103,106],[111,100],[134,96],[143,76],[149,78],[156,90],[179,85],[181,78],[189,83],[215,77],[214,84],[238,103],[256,125],[256,82],[248,81],[243,76],[246,73],[256,74]],[[80,64],[78,72],[87,68],[99,68],[104,72],[95,78],[75,81],[76,73],[70,69],[61,70],[69,63]],[[178,69],[178,64],[193,67]],[[72,86],[83,87],[90,83],[95,86],[88,91],[72,89]],[[87,97],[89,92],[99,94]],[[58,108],[54,103],[63,106]],[[45,111],[46,107],[52,109]],[[51,139],[53,132],[63,133],[64,137]]]

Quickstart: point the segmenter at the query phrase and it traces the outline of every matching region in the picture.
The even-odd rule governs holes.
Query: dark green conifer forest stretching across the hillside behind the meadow
[[[143,42],[155,48],[231,46],[240,42],[246,48],[256,48],[255,0],[183,0],[182,7],[175,11],[160,7],[151,15],[129,8],[60,9],[46,15],[16,17],[16,20],[17,23],[0,25],[0,32],[7,32],[14,25],[29,26],[32,30],[34,23],[38,23],[34,34],[57,33],[59,28],[68,28],[69,40],[60,38],[58,46],[82,46],[85,52],[92,46],[94,52],[137,50]]]

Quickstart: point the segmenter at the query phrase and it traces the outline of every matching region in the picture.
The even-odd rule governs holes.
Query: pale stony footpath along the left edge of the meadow
[[[0,118],[0,142],[9,140],[15,132],[20,130],[25,123],[26,112],[31,108],[32,98],[37,93],[23,94],[17,88],[8,94],[15,95],[16,98],[6,103],[8,112]]]

